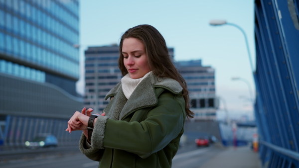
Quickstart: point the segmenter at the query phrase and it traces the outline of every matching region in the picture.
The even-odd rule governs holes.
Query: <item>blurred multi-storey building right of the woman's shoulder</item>
[[[179,61],[177,69],[187,83],[194,119],[216,120],[215,70],[201,60]]]

